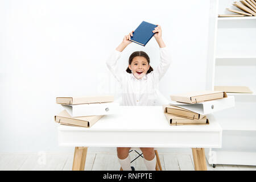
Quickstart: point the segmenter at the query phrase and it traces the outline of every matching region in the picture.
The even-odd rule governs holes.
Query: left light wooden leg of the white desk
[[[75,147],[72,171],[84,171],[88,147]]]

